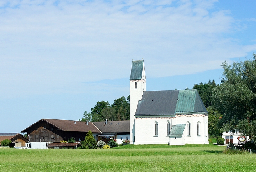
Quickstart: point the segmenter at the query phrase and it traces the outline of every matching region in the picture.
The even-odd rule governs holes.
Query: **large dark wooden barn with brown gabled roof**
[[[75,141],[82,141],[89,130],[92,131],[93,136],[101,134],[101,131],[91,122],[40,119],[21,133],[27,133],[30,142],[54,143],[71,137],[74,137]]]

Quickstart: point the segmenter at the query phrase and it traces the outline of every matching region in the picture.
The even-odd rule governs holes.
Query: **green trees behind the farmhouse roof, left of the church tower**
[[[97,102],[91,112],[85,111],[79,121],[104,121],[104,120],[130,120],[130,95],[127,100],[124,96],[114,100],[113,104],[107,101]]]

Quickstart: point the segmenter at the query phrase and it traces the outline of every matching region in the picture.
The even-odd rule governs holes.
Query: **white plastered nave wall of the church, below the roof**
[[[158,123],[158,136],[155,136],[155,121]],[[171,125],[186,124],[183,135],[169,137],[167,121]],[[188,136],[187,123],[190,122],[191,134]],[[200,136],[197,135],[197,123],[200,123]],[[207,124],[207,125],[203,125]],[[135,144],[208,144],[208,116],[204,114],[182,114],[176,117],[148,117],[135,119]]]

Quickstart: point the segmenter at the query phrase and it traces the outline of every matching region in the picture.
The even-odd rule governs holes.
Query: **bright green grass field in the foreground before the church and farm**
[[[222,154],[224,149],[212,144],[0,149],[0,171],[256,171],[256,154]]]

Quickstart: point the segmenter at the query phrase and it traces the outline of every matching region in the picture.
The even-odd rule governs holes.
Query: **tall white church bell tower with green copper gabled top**
[[[132,61],[130,75],[130,144],[135,142],[135,112],[143,91],[146,91],[144,60]]]

